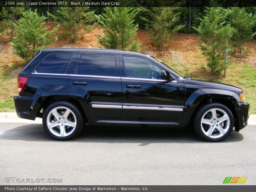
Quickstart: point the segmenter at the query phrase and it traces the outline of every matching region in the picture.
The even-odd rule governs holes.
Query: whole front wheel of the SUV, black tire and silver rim
[[[220,103],[209,103],[201,107],[195,116],[194,129],[207,141],[224,140],[234,127],[232,112]]]

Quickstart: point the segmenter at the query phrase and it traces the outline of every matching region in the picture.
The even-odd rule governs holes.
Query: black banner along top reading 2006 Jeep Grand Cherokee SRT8
[[[256,7],[255,0],[1,0],[1,7]]]

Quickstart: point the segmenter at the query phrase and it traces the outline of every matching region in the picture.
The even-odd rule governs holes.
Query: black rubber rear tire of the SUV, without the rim
[[[48,129],[48,126],[47,126],[47,116],[48,114],[50,113],[50,111],[53,109],[53,108],[56,108],[56,107],[66,107],[66,108],[69,108],[70,110],[73,111],[73,113],[75,114],[76,116],[76,128],[74,130],[74,132],[72,132],[70,135],[66,136],[66,137],[59,137],[59,136],[56,136],[54,135],[49,129]],[[44,111],[44,115],[43,115],[43,127],[44,127],[44,130],[45,132],[50,135],[52,138],[56,139],[56,140],[70,140],[72,139],[73,137],[75,137],[82,129],[82,126],[83,126],[83,118],[81,116],[81,113],[80,111],[74,106],[72,105],[71,103],[69,102],[66,102],[66,101],[57,101],[57,102],[54,102],[52,103],[51,105],[49,105],[46,110]]]

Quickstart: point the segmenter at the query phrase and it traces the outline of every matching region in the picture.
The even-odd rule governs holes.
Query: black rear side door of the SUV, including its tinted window
[[[78,54],[68,78],[68,94],[79,101],[87,118],[121,118],[119,55]]]

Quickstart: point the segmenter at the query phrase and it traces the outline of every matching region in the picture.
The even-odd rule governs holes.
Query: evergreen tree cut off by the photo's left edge
[[[16,17],[20,16],[25,10],[25,7],[3,7],[0,12],[0,17],[3,20],[0,26],[1,35],[7,35],[11,38],[14,36],[14,22]]]

